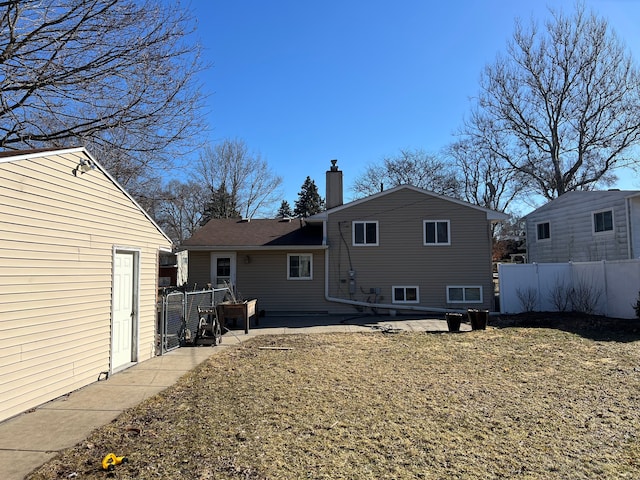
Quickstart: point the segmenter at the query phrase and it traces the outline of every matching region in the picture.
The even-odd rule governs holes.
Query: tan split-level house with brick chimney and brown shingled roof
[[[213,219],[185,241],[190,285],[231,280],[277,313],[493,308],[491,223],[506,215],[410,185],[308,218]]]

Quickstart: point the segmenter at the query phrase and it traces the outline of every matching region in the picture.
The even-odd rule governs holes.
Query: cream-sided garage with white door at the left
[[[0,153],[0,420],[154,356],[171,247],[84,148]]]

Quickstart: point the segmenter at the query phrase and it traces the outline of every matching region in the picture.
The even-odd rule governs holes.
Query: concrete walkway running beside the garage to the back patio
[[[23,480],[58,452],[82,442],[93,430],[114,420],[123,410],[170,387],[212,355],[253,336],[393,329],[444,332],[447,324],[444,320],[420,317],[267,317],[260,319],[260,325],[248,335],[244,330],[226,332],[217,347],[185,347],[154,357],[0,423],[1,477]],[[461,330],[470,330],[470,326],[462,324]]]

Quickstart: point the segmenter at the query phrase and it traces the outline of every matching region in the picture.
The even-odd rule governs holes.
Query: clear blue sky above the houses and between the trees
[[[640,1],[591,0],[640,62]],[[483,67],[514,19],[573,1],[193,0],[211,68],[202,74],[212,144],[239,138],[284,180],[292,206],[310,176],[324,197],[338,159],[345,200],[366,166],[438,153],[470,111]],[[626,176],[620,188],[640,188]]]

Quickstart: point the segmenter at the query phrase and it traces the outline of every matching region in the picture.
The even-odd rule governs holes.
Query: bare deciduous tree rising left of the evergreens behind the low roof
[[[224,140],[200,155],[198,175],[210,192],[228,202],[225,210],[245,218],[273,217],[282,198],[282,178],[243,140]]]

